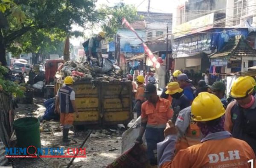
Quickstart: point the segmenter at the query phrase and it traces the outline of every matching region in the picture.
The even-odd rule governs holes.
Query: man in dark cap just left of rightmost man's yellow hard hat
[[[226,85],[221,81],[216,81],[211,86],[212,93],[216,95],[219,99],[221,99],[221,102],[224,106],[224,108],[227,108],[227,99],[225,98],[226,94]]]

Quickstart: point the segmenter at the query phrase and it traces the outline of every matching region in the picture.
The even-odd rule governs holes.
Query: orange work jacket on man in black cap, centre
[[[162,125],[165,127],[172,115],[171,102],[164,98],[159,98],[156,107],[148,101],[141,106],[141,122],[147,122],[151,126]]]

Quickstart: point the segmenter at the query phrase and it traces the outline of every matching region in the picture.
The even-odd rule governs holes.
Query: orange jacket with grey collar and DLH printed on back
[[[255,160],[252,148],[227,131],[208,134],[202,143],[180,150],[174,157],[174,136],[157,144],[160,168],[250,168],[247,161]]]

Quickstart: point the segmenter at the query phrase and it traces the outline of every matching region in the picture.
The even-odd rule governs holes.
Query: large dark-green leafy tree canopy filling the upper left
[[[5,10],[1,10],[3,4]],[[77,34],[71,25],[96,21],[94,9],[95,0],[0,0],[0,18],[9,24],[8,28],[0,26],[0,62],[7,64],[6,49],[38,52],[41,46],[60,42],[67,33]],[[18,15],[20,11],[26,15]]]

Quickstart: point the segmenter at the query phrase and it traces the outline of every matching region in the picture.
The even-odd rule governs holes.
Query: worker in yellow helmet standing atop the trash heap
[[[85,55],[87,61],[92,61],[92,59],[102,62],[102,39],[105,39],[105,33],[103,31],[99,32],[96,37],[92,37],[83,43]]]

